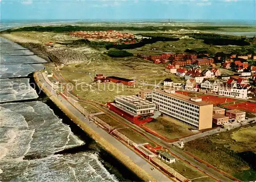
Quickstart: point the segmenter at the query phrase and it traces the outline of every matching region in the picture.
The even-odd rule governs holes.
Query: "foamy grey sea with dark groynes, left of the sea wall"
[[[31,86],[31,73],[46,61],[1,37],[0,48],[0,181],[130,180],[120,163]]]

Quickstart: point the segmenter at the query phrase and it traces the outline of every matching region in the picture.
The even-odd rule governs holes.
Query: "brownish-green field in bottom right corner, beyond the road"
[[[253,158],[241,158],[241,154],[248,151],[254,153],[255,158],[255,129],[252,124],[211,135],[186,143],[185,150],[241,180],[255,180],[256,172],[249,167],[249,163],[254,165]]]

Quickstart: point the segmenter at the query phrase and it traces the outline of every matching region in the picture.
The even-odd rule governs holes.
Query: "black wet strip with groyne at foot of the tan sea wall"
[[[71,131],[84,141],[86,144],[65,149],[63,151],[57,152],[56,154],[67,154],[67,153],[76,153],[81,151],[95,151],[99,155],[99,161],[102,165],[111,173],[114,174],[117,179],[127,180],[127,181],[139,181],[141,180],[133,171],[127,169],[121,162],[115,161],[115,157],[104,150],[95,140],[93,140],[90,135],[84,132],[79,126],[77,126],[59,107],[55,105],[54,102],[44,93],[35,82],[33,73],[28,76],[30,84],[35,86],[36,93],[38,98],[42,99],[42,102],[47,104],[54,112],[54,114],[62,120],[62,123],[68,125],[71,128]],[[78,151],[76,150],[78,149]]]

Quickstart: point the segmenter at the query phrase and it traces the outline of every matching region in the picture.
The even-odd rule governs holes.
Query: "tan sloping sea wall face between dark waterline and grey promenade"
[[[120,152],[116,147],[114,147],[111,143],[106,141],[101,135],[87,126],[86,123],[82,122],[78,117],[74,115],[69,109],[66,108],[64,104],[62,104],[55,96],[53,96],[50,91],[45,88],[42,83],[39,81],[37,74],[34,73],[35,82],[38,86],[44,90],[46,95],[58,106],[75,124],[79,125],[85,132],[87,132],[95,141],[97,141],[106,151],[111,153],[117,160],[119,160],[123,165],[133,171],[138,177],[140,177],[143,181],[156,181],[152,176],[150,176],[147,172],[145,172],[142,168],[137,166],[130,157],[126,156],[122,152]]]

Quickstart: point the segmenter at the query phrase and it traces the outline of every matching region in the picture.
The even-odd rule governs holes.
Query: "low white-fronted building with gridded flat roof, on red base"
[[[134,115],[148,115],[154,113],[156,104],[137,96],[120,96],[115,98],[117,107],[127,110]]]

